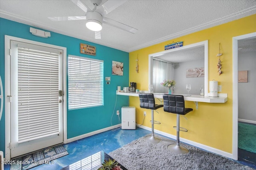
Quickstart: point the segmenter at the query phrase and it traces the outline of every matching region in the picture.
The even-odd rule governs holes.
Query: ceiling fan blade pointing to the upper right
[[[100,13],[102,16],[110,13],[112,10],[116,9],[118,6],[124,4],[127,0],[108,0],[101,6],[97,7],[96,12]]]

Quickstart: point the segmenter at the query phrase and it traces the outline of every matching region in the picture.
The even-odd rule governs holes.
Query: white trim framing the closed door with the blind
[[[54,47],[57,49],[63,50],[63,142],[67,143],[67,80],[66,80],[66,59],[67,59],[67,50],[66,47],[60,47],[56,45],[50,45],[46,43],[41,43],[37,41],[31,41],[28,39],[22,39],[18,37],[12,37],[9,35],[4,36],[4,42],[5,42],[5,96],[4,96],[4,103],[5,103],[5,160],[10,160],[10,98],[8,95],[10,94],[10,41],[21,41],[36,45],[43,45],[46,47]],[[8,102],[6,102],[8,101]]]

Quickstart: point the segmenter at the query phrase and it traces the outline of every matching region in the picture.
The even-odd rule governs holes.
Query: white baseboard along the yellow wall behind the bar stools
[[[140,125],[138,124],[138,126],[140,126]],[[151,128],[150,128],[150,127],[146,127],[146,126],[143,126],[143,125],[141,125],[140,127],[141,127],[142,129],[146,129],[146,130],[148,130],[148,131],[151,131]],[[162,132],[162,131],[159,131],[159,130],[156,130],[156,129],[154,129],[154,132],[155,132],[155,133],[158,133],[158,134],[160,134],[160,135],[163,135],[163,136],[166,136],[166,137],[169,137],[169,138],[171,138],[171,139],[176,140],[176,136],[175,136],[175,135],[171,135],[171,134],[169,134],[169,133],[165,133],[165,132]],[[213,147],[209,147],[209,146],[203,145],[203,144],[201,144],[201,143],[196,143],[196,142],[194,142],[194,141],[190,141],[190,140],[188,140],[188,139],[184,139],[184,138],[181,138],[181,137],[180,137],[180,141],[183,142],[183,143],[186,143],[186,144],[188,144],[188,145],[192,145],[192,146],[194,146],[194,147],[198,147],[198,148],[200,148],[200,149],[204,149],[204,150],[207,150],[207,151],[209,151],[209,152],[213,152],[213,153],[216,153],[216,154],[225,156],[225,157],[227,157],[227,158],[233,159],[232,153],[228,153],[228,152],[225,152],[225,151],[223,151],[223,150],[219,150],[219,149],[216,149],[216,148],[213,148]]]

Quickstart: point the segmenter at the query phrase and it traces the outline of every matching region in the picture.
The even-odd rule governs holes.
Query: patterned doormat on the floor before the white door
[[[13,159],[10,170],[28,170],[41,164],[54,164],[54,159],[67,155],[63,145],[41,149],[32,154]]]

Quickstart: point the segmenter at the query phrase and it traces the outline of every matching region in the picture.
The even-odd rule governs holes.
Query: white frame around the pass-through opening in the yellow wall
[[[168,53],[172,53],[174,51],[188,50],[189,48],[202,47],[202,46],[204,46],[204,96],[208,96],[208,40],[148,55],[148,84],[153,84],[152,83],[153,57],[165,55]]]

